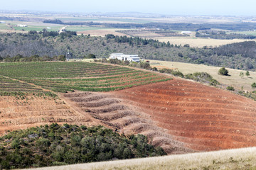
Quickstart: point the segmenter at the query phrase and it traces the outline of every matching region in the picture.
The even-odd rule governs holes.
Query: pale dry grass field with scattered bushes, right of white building
[[[220,67],[207,66],[203,64],[190,64],[182,62],[165,62],[159,60],[150,60],[151,67],[157,67],[158,69],[170,68],[178,69],[183,74],[189,74],[194,72],[208,72],[213,76],[213,79],[216,79],[220,84],[225,84],[228,86],[234,86],[235,89],[241,90],[243,87],[244,90],[253,91],[251,84],[256,82],[256,72],[250,72],[250,76],[240,77],[240,72],[245,74],[245,70],[238,69],[228,69],[229,77],[221,76],[218,74]]]

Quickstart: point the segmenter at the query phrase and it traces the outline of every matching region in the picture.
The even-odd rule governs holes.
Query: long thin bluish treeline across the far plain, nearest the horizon
[[[63,22],[58,19],[46,20],[44,23],[56,23],[65,25],[79,25],[79,26],[103,26],[106,28],[161,28],[164,30],[209,30],[210,28],[222,29],[222,30],[254,30],[256,23],[95,23],[95,22]]]

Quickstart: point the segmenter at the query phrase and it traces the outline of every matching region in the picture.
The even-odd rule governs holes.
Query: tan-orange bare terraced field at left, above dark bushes
[[[90,118],[74,111],[64,101],[39,96],[0,96],[0,135],[49,123],[94,125]]]

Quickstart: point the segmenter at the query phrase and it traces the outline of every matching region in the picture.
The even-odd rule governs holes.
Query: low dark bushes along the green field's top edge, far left
[[[33,55],[31,57],[23,57],[23,55],[16,55],[14,57],[0,57],[0,62],[46,62],[46,61],[65,61],[65,55],[54,57]]]

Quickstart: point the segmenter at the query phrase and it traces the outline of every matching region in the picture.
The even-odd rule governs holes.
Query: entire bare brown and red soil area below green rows
[[[256,102],[193,81],[59,96],[0,96],[0,133],[74,123],[105,125],[125,135],[141,133],[169,154],[256,146]]]

